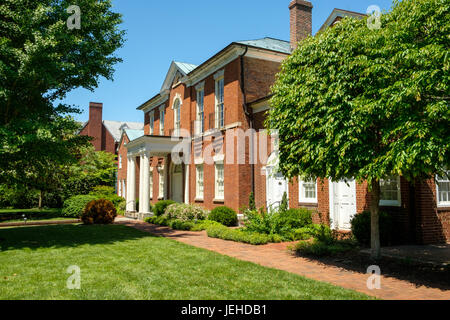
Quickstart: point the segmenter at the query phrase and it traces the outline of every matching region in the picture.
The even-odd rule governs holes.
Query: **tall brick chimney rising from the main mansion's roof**
[[[292,49],[312,34],[312,8],[311,2],[304,0],[293,0],[289,5]]]

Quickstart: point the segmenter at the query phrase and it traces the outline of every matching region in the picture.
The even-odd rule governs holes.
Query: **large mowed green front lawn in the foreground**
[[[0,229],[0,299],[368,299],[125,226]],[[81,289],[66,287],[69,266]]]

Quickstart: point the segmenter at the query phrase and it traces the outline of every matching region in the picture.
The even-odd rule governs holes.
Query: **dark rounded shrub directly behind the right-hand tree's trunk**
[[[365,211],[361,214],[357,214],[351,221],[352,233],[356,240],[364,246],[370,245],[370,225],[371,214],[369,211]],[[380,212],[380,241],[382,246],[388,246],[392,243],[393,238],[393,221],[392,217],[385,213]]]

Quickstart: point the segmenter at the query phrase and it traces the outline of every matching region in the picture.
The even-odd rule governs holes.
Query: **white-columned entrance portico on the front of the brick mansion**
[[[165,183],[168,179],[169,161],[172,160],[172,153],[178,150],[182,138],[167,136],[142,136],[129,142],[126,147],[128,150],[127,166],[127,192],[126,192],[126,211],[128,215],[133,215],[142,219],[150,215],[150,161],[152,157],[163,160],[161,172],[164,174],[164,186],[162,198],[168,198],[168,187]],[[170,157],[169,157],[170,156]],[[170,160],[169,160],[170,158]],[[139,159],[139,161],[137,160]],[[172,160],[173,161],[173,160]],[[136,168],[139,162],[139,212],[136,210]],[[185,192],[189,191],[185,189]]]

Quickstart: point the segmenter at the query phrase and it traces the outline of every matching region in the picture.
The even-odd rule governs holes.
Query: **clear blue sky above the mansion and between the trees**
[[[114,81],[102,79],[94,91],[77,89],[65,103],[89,118],[89,102],[103,102],[103,119],[143,122],[136,108],[157,94],[170,63],[201,64],[233,41],[273,37],[289,40],[290,0],[113,0],[123,14],[127,41],[117,54]],[[338,7],[366,12],[370,5],[388,10],[391,0],[312,0],[313,33]]]

